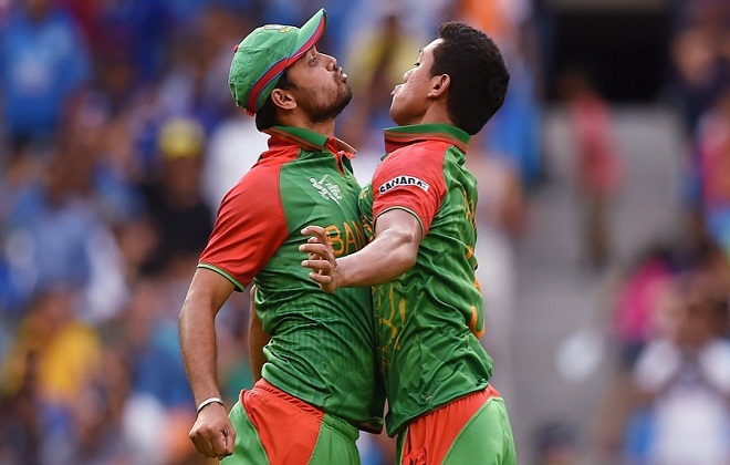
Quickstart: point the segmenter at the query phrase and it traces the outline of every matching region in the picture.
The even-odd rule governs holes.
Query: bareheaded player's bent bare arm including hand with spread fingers
[[[355,254],[335,259],[325,230],[307,226],[303,235],[313,236],[301,251],[319,255],[319,259],[302,261],[311,268],[310,278],[326,292],[342,287],[378,286],[392,281],[416,265],[423,228],[415,215],[394,208],[383,213],[375,223],[375,239]]]

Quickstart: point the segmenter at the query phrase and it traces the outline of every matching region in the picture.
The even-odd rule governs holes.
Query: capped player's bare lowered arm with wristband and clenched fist
[[[180,349],[196,405],[211,397],[221,399],[215,319],[232,291],[231,281],[212,270],[198,268],[180,310]],[[226,407],[218,402],[204,406],[190,430],[190,440],[207,457],[220,459],[231,455],[236,433]]]

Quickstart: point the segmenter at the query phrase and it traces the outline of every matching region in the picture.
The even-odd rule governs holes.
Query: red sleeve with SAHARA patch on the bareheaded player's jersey
[[[446,193],[441,144],[409,145],[389,154],[373,176],[373,225],[387,210],[414,214],[428,232]]]

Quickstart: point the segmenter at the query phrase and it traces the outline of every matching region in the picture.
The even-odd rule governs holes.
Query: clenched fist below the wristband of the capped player
[[[226,407],[213,403],[202,409],[190,430],[190,441],[195,444],[195,448],[206,457],[220,461],[231,455],[236,442],[236,431],[228,418]]]

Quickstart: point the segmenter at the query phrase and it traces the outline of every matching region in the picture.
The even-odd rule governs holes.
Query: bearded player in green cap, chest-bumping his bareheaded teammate
[[[198,409],[190,438],[223,464],[358,464],[358,430],[382,430],[369,289],[324,293],[298,264],[309,224],[324,225],[337,257],[367,240],[354,149],[333,136],[352,91],[336,60],[316,49],[325,22],[320,10],[302,28],[258,28],[231,63],[233,100],[255,115],[269,148],[222,199],[179,317]],[[231,292],[251,282],[251,337],[268,341],[265,360],[229,415],[213,321]]]

